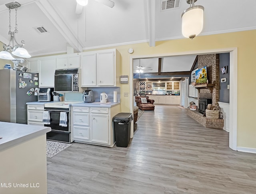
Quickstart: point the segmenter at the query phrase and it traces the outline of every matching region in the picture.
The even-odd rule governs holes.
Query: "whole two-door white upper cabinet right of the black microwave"
[[[82,87],[119,86],[119,53],[116,49],[84,52],[81,55]]]

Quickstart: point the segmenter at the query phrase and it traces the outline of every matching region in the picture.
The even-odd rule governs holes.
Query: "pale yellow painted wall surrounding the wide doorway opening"
[[[256,30],[232,32],[209,36],[156,42],[155,47],[148,43],[116,46],[121,54],[121,75],[130,75],[130,55],[127,50],[133,48],[134,56],[168,54],[176,52],[202,51],[221,48],[238,48],[238,129],[237,146],[256,148],[256,113],[254,103],[256,97]],[[105,48],[103,48],[105,49]],[[198,52],[200,53],[200,52]],[[123,97],[130,92],[129,84],[121,84],[121,110],[130,112],[130,98]]]

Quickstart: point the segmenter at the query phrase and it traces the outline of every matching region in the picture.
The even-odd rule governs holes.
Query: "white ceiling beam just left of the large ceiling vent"
[[[149,46],[156,46],[156,1],[147,0]]]

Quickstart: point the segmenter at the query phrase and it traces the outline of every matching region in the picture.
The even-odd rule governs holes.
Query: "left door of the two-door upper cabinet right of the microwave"
[[[82,54],[82,87],[96,86],[96,53]]]

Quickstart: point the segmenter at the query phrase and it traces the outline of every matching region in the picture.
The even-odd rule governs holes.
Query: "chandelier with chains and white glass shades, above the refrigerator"
[[[28,51],[23,48],[25,41],[21,40],[21,44],[18,44],[15,38],[15,34],[18,33],[18,24],[17,24],[17,8],[20,7],[20,4],[17,2],[10,2],[8,4],[5,4],[7,8],[9,8],[9,32],[8,34],[10,37],[9,44],[3,44],[4,50],[0,52],[0,58],[2,59],[8,59],[8,60],[14,60],[14,57],[10,54],[12,51],[12,54],[18,57],[22,58],[30,58],[30,54],[28,54]],[[15,30],[11,31],[11,9],[15,9]],[[15,43],[15,45],[14,45]]]

